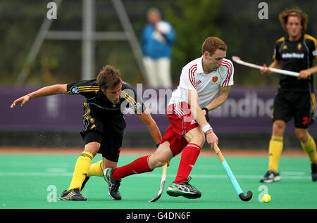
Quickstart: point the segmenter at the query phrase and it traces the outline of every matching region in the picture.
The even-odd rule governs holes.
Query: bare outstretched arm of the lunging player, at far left
[[[30,101],[31,98],[38,98],[54,94],[67,94],[67,84],[54,84],[51,86],[42,87],[37,91],[33,91],[29,94],[26,94],[25,96],[16,99],[15,101],[13,101],[10,108],[18,105],[18,103],[21,103],[21,106],[24,106],[24,104],[27,103],[27,101]]]

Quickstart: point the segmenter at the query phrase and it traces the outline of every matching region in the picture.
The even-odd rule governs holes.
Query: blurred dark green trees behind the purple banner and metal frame
[[[50,1],[0,1],[0,84],[12,86],[39,32]],[[259,19],[260,2],[268,4],[268,19]],[[228,45],[227,58],[240,56],[250,63],[262,65],[272,61],[275,41],[285,34],[278,14],[285,8],[300,8],[309,15],[307,33],[317,37],[317,1],[232,1],[232,0],[123,0],[123,6],[137,39],[147,23],[150,7],[161,10],[164,20],[174,27],[178,39],[173,46],[173,84],[178,85],[180,70],[190,60],[201,56],[201,44],[209,36],[217,36]],[[50,30],[81,31],[82,1],[64,0]],[[122,32],[112,1],[96,0],[94,18],[97,32]],[[118,67],[125,81],[146,83],[129,42],[122,40],[95,43],[95,77],[103,65]],[[45,39],[30,65],[23,85],[68,83],[81,79],[82,42],[80,40]],[[259,70],[235,65],[235,85],[277,85],[278,76],[263,77]]]

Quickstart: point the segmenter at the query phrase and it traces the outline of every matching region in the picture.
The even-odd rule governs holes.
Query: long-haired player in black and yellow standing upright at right
[[[287,32],[275,44],[273,62],[268,68],[279,68],[299,72],[299,77],[280,75],[280,87],[274,98],[273,132],[268,147],[268,172],[260,180],[271,183],[280,180],[278,164],[283,149],[283,135],[288,121],[294,117],[295,134],[309,156],[311,179],[317,181],[316,144],[308,132],[315,118],[313,110],[316,98],[313,94],[313,74],[317,66],[317,40],[306,34],[308,17],[299,9],[286,9],[279,15],[280,23]],[[261,72],[270,74],[263,65]]]

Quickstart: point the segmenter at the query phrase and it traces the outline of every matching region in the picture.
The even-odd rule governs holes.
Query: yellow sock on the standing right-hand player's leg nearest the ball
[[[283,137],[272,136],[268,147],[268,170],[278,172],[278,163],[280,162],[280,154],[283,150]]]

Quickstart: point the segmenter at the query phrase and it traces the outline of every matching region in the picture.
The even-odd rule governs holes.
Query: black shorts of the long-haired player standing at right
[[[294,117],[297,128],[306,129],[313,124],[313,110],[316,106],[315,95],[309,91],[278,90],[273,104],[273,121],[288,122]]]

